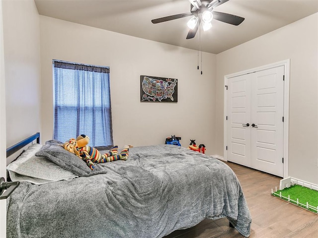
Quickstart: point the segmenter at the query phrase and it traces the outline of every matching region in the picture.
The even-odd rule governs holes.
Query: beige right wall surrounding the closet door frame
[[[318,13],[217,55],[214,153],[223,156],[224,75],[287,59],[289,176],[318,184]]]

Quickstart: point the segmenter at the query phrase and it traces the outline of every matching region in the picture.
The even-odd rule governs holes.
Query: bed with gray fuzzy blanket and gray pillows
[[[162,238],[223,217],[250,234],[239,180],[222,161],[165,144],[91,171],[60,144],[33,143],[8,165],[20,185],[7,198],[7,237]]]

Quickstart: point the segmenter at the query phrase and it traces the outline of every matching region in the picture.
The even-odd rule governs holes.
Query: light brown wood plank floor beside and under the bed
[[[231,162],[252,217],[250,238],[318,238],[318,215],[270,195],[281,178]],[[256,180],[257,179],[257,180]],[[226,218],[204,220],[164,238],[243,238]]]

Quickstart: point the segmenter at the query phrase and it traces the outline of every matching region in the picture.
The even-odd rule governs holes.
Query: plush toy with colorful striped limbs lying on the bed
[[[101,155],[99,151],[91,146],[88,146],[89,137],[79,135],[76,139],[72,138],[63,144],[63,148],[77,155],[84,160],[88,167],[93,170],[93,163],[106,163],[115,160],[127,160],[129,146],[124,146],[124,149],[118,154],[118,146],[112,147],[108,153]]]

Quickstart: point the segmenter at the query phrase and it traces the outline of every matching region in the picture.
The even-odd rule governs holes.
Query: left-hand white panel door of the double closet
[[[250,167],[250,87],[250,74],[228,80],[227,159],[248,167]]]

